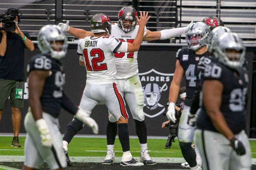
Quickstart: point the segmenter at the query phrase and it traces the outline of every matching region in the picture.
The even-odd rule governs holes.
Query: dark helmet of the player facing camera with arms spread
[[[137,19],[135,18],[135,16],[137,16],[137,11],[133,7],[122,7],[118,13],[118,27],[121,28],[125,33],[134,30],[137,24]],[[124,24],[122,21],[123,19],[132,21],[132,25]]]

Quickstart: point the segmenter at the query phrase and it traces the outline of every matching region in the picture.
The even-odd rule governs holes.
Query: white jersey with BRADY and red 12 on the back
[[[84,56],[87,70],[86,83],[101,85],[114,83],[116,66],[114,52],[122,44],[114,36],[100,36],[79,39],[78,55]],[[81,60],[81,59],[80,59]]]

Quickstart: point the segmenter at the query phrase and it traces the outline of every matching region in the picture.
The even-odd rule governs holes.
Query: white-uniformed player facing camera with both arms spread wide
[[[134,41],[135,36],[138,33],[138,24],[137,24],[137,11],[130,6],[124,6],[118,13],[118,22],[112,23],[112,31],[111,35],[114,35],[120,41],[130,42]],[[76,29],[70,27],[69,21],[66,24],[59,23],[59,26],[70,33],[73,36],[78,38],[83,36],[93,36],[94,33],[87,32],[83,29]],[[153,40],[163,40],[169,39],[172,37],[176,37],[178,35],[186,33],[189,25],[187,27],[182,28],[174,28],[174,29],[165,29],[157,32],[151,32],[144,28],[144,41],[153,41]],[[114,53],[115,63],[116,63],[116,82],[117,89],[126,99],[130,111],[132,113],[132,117],[135,121],[135,129],[139,138],[140,148],[141,148],[141,157],[140,161],[148,164],[154,165],[156,162],[150,158],[148,145],[147,145],[147,129],[144,121],[144,97],[142,85],[138,76],[138,52],[116,52]],[[71,122],[66,129],[64,138],[63,138],[63,146],[65,149],[68,148],[68,143],[71,139],[78,133],[79,130],[82,129],[82,123],[79,121]],[[107,155],[105,160],[102,161],[102,164],[112,164],[115,161],[114,155],[114,141],[117,134],[117,124],[113,119],[113,115],[110,112],[109,121],[107,124]]]

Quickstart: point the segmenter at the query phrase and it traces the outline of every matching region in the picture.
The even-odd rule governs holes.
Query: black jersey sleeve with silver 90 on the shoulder
[[[210,63],[204,69],[203,80],[219,80],[223,81],[224,73],[223,67],[218,63]]]

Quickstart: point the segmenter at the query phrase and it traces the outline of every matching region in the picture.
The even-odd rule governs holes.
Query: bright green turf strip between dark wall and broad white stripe
[[[24,146],[25,137],[19,137]],[[12,137],[0,137],[0,155],[24,155],[24,148],[12,148]],[[69,144],[69,156],[71,157],[103,157],[106,155],[106,138],[73,138]],[[117,157],[122,156],[121,144],[116,138],[114,150]],[[172,143],[172,147],[165,149],[165,139],[148,139],[148,149],[151,157],[182,157],[178,142]],[[252,158],[256,158],[256,141],[250,141]],[[214,147],[214,146],[213,146]],[[130,150],[134,157],[140,156],[138,139],[130,139]]]

